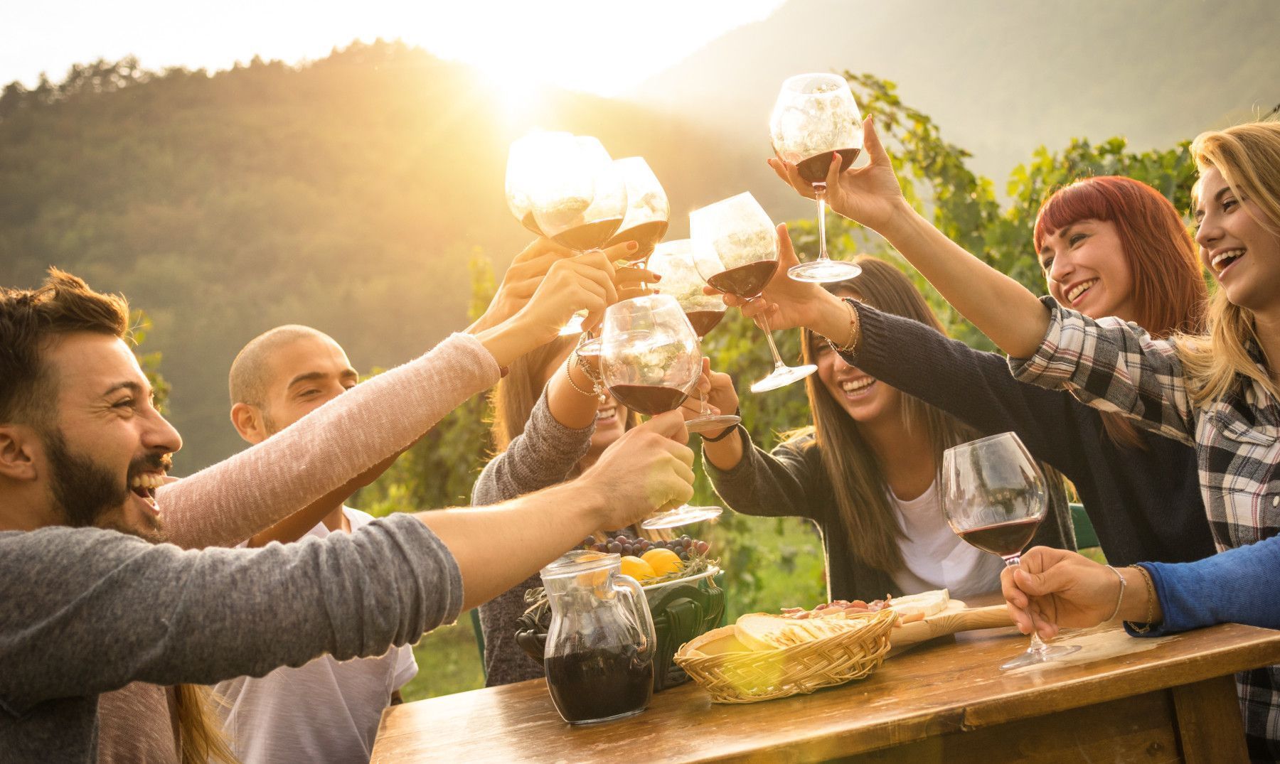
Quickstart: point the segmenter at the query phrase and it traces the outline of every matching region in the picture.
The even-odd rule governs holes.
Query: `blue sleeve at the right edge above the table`
[[[1144,562],[1164,623],[1135,636],[1158,636],[1215,623],[1280,628],[1280,536],[1229,549],[1196,562]]]

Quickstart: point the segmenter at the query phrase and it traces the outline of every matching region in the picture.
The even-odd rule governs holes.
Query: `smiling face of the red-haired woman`
[[[1133,273],[1115,223],[1076,220],[1044,237],[1038,253],[1059,305],[1091,319],[1137,320]]]

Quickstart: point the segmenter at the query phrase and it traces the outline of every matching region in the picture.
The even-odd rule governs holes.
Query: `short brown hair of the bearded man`
[[[119,294],[93,292],[56,267],[37,289],[0,288],[0,422],[50,420],[58,379],[44,354],[76,331],[127,338],[129,303]]]

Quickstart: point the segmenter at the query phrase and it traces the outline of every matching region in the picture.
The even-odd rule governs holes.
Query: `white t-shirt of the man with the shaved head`
[[[372,520],[358,509],[342,511],[352,531]],[[307,535],[323,539],[329,529],[321,522]],[[243,764],[369,761],[383,709],[415,674],[413,649],[404,645],[380,658],[321,655],[265,677],[228,680],[214,691],[230,704],[219,714]]]

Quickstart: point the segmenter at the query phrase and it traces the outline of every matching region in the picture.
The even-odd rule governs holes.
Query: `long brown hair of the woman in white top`
[[[943,333],[937,316],[929,310],[924,296],[900,270],[892,265],[863,255],[855,259],[863,273],[852,279],[828,284],[831,292],[849,289],[878,310],[904,316]],[[813,363],[817,343],[822,337],[804,330],[803,353],[806,363]],[[814,439],[809,448],[818,448],[827,476],[836,493],[840,517],[849,534],[850,549],[864,563],[882,569],[897,571],[902,567],[899,541],[902,531],[893,516],[888,499],[888,485],[876,452],[861,438],[858,422],[832,398],[818,375],[805,378],[809,407],[813,411]],[[961,424],[941,408],[919,398],[902,394],[902,424],[922,427],[933,448],[934,468],[942,468],[942,452],[959,443],[977,438],[977,431]],[[809,429],[795,435],[806,435]]]

